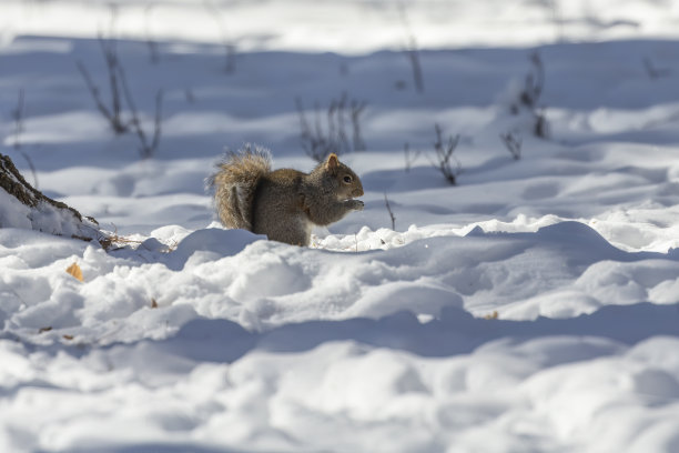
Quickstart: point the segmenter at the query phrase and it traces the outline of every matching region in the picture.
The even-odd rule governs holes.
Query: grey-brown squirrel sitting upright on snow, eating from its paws
[[[221,222],[230,229],[266,234],[270,240],[308,245],[314,225],[337,222],[362,211],[361,180],[332,153],[311,173],[272,171],[268,150],[245,145],[229,152],[207,179]]]

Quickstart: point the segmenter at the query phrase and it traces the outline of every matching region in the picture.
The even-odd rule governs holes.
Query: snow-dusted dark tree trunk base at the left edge
[[[7,195],[3,197],[4,192]],[[9,195],[9,198],[8,198]],[[0,228],[23,228],[102,241],[105,234],[92,218],[65,203],[54,201],[29,184],[8,155],[0,153]]]

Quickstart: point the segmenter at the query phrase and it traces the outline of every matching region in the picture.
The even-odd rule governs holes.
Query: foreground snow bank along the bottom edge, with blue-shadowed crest
[[[627,330],[640,316],[660,326],[648,340]],[[31,419],[3,446],[672,451],[675,308],[541,322],[514,325],[448,309],[427,324],[397,314],[265,334],[202,319],[166,341],[110,348],[34,351],[2,340],[11,366],[0,380],[14,390],[0,421],[11,430]],[[666,329],[672,336],[655,336]],[[501,339],[480,340],[488,332]]]

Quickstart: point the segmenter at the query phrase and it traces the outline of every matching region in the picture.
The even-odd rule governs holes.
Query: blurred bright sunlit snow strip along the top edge
[[[114,22],[114,23],[112,23]],[[239,51],[343,53],[558,41],[659,39],[679,33],[672,0],[2,0],[0,37],[229,43]]]

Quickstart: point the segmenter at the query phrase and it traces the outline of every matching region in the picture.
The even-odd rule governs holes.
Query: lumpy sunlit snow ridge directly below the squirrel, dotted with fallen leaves
[[[152,250],[149,244],[161,242],[148,240],[136,252],[109,255],[68,241],[45,250],[44,239],[27,232],[24,244],[3,252],[1,281],[11,308],[6,316],[10,331],[30,341],[68,335],[111,343],[164,338],[188,315],[266,331],[399,311],[430,320],[444,309],[464,308],[477,316],[495,312],[500,319],[535,320],[574,318],[611,303],[677,302],[676,253],[624,252],[581,223],[561,222],[536,233],[478,228],[466,236],[419,233],[425,239],[398,248],[337,253],[207,229],[186,235],[173,251]],[[379,235],[366,234],[358,244],[381,241]],[[83,283],[64,272],[72,262],[82,269]],[[37,279],[43,283],[17,293],[18,282]],[[131,328],[158,321],[152,305],[180,323]],[[48,326],[49,332],[38,332]]]

